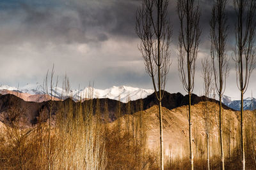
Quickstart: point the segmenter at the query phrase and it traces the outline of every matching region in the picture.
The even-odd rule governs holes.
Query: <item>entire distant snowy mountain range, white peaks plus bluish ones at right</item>
[[[128,101],[136,101],[138,99],[145,99],[154,93],[152,89],[140,89],[135,87],[113,86],[109,89],[95,89],[93,87],[86,87],[84,89],[68,89],[55,87],[52,90],[45,90],[42,85],[36,83],[35,85],[27,84],[24,87],[10,87],[8,85],[0,86],[0,94],[13,94],[20,97],[24,101],[43,102],[50,99],[60,101],[72,97],[74,101],[87,99],[113,99],[122,103]],[[51,98],[52,94],[52,98]],[[240,110],[241,101],[232,99],[232,97],[223,96],[222,103],[234,110]],[[256,99],[248,97],[244,99],[244,110],[255,110]]]

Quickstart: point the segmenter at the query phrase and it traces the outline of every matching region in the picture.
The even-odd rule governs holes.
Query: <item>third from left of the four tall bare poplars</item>
[[[225,169],[223,135],[222,135],[222,114],[221,98],[225,92],[226,78],[228,76],[228,59],[226,54],[227,43],[227,16],[225,7],[227,0],[214,0],[212,6],[211,26],[211,57],[214,73],[215,89],[219,96],[219,130],[221,148],[221,168]]]

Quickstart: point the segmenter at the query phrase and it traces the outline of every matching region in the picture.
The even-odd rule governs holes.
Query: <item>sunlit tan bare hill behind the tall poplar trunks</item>
[[[205,157],[206,141],[205,141],[205,102],[200,102],[191,107],[192,121],[193,121],[193,145],[195,157]],[[211,103],[211,155],[220,155],[218,138],[218,104]],[[182,159],[189,155],[188,142],[188,106],[180,106],[173,110],[163,108],[163,139],[164,139],[164,155],[165,157],[172,157],[172,159]],[[250,125],[250,114],[252,111],[244,111],[244,124]],[[141,113],[134,113],[134,115],[125,115],[120,118],[123,127],[130,122],[131,127],[135,125],[132,122],[138,122],[139,117],[147,126],[147,145],[150,150],[159,150],[159,115],[157,106],[152,106],[148,110]],[[141,116],[140,116],[141,115]],[[118,124],[118,120],[112,123]],[[225,153],[228,155],[229,146],[230,152],[234,150],[239,143],[237,138],[240,129],[239,112],[232,110],[223,110],[223,135]],[[131,131],[131,130],[130,130]]]

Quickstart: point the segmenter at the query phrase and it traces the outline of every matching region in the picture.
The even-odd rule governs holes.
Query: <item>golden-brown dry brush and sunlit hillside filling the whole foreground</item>
[[[206,145],[204,103],[192,106],[195,168],[205,169]],[[211,169],[220,169],[218,105],[211,103]],[[246,166],[256,167],[255,113],[246,111]],[[106,117],[106,115],[104,115]],[[239,112],[223,110],[226,169],[241,166]],[[3,169],[157,169],[159,166],[159,122],[157,106],[115,122],[93,115],[90,104],[63,110],[51,126],[50,153],[48,122],[22,127],[0,122],[0,166]],[[15,122],[17,121],[17,122]],[[166,169],[188,169],[187,107],[163,108],[164,163]]]

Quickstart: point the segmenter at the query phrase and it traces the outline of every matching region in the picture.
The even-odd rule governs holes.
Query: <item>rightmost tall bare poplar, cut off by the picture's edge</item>
[[[243,169],[245,169],[244,155],[244,125],[243,125],[243,95],[247,90],[250,76],[255,68],[255,0],[234,0],[237,15],[236,48],[234,60],[236,62],[237,87],[241,92],[241,152]]]

